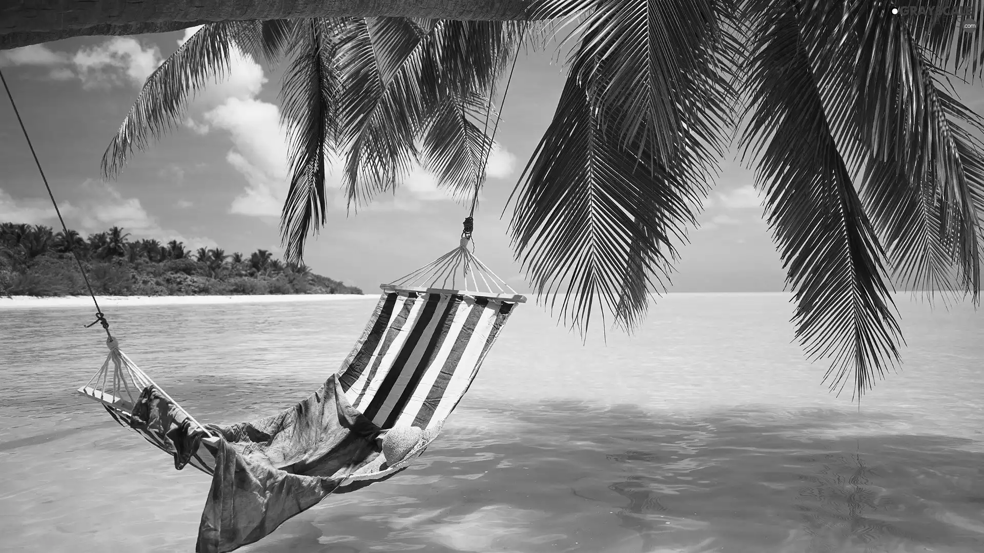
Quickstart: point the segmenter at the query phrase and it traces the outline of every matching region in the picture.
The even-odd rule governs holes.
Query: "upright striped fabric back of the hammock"
[[[375,424],[433,428],[468,390],[514,302],[392,291],[338,370],[345,397]]]

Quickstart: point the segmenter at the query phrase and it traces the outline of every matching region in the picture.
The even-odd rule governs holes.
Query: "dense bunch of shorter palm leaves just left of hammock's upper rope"
[[[464,183],[451,179],[483,170],[471,151],[488,140],[474,134],[473,120],[488,120],[492,85],[524,26],[373,18],[346,31],[338,52],[339,147],[350,203],[392,190],[421,157],[456,189]]]

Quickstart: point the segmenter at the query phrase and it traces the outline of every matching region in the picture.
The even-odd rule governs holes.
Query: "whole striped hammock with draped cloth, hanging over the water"
[[[197,551],[252,543],[329,494],[400,472],[437,437],[525,301],[467,243],[462,237],[455,250],[383,284],[338,371],[275,415],[202,424],[112,337],[102,367],[78,392],[170,455],[176,468],[190,464],[213,476]],[[461,278],[470,290],[455,288]]]

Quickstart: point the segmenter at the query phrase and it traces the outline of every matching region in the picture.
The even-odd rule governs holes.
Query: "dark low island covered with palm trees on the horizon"
[[[88,295],[73,249],[97,295],[361,294],[304,264],[220,248],[188,251],[183,243],[131,241],[113,226],[83,238],[40,224],[0,222],[0,296]]]

